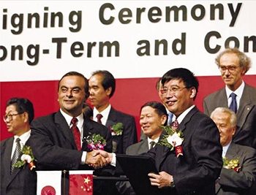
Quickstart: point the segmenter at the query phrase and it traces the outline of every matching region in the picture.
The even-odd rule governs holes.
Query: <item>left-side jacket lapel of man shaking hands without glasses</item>
[[[60,111],[56,112],[56,115],[54,115],[54,121],[59,131],[61,131],[61,133],[64,134],[64,137],[72,144],[74,148],[76,148],[72,131],[69,129],[69,125],[67,124],[64,116],[61,115]]]

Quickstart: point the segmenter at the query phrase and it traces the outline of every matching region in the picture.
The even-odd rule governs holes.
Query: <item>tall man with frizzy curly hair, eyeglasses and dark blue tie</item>
[[[237,48],[226,49],[215,59],[225,88],[203,100],[206,115],[217,107],[229,107],[237,115],[233,142],[256,148],[256,88],[244,83],[243,76],[251,67],[250,59]]]

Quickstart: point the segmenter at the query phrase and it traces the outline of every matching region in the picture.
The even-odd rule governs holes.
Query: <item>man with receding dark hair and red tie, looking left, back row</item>
[[[111,131],[117,123],[122,123],[121,134],[112,130],[113,152],[125,153],[127,147],[136,143],[137,130],[135,119],[131,115],[115,110],[110,104],[110,98],[116,90],[116,80],[106,70],[98,70],[91,74],[89,79],[89,99],[94,106],[94,121],[107,126]],[[101,115],[101,118],[97,118]]]

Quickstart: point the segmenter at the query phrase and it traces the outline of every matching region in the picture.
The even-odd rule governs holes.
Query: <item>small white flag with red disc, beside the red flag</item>
[[[61,171],[37,171],[37,195],[61,194]]]

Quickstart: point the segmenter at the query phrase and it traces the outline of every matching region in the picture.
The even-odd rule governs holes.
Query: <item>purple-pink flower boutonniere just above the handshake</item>
[[[106,140],[100,134],[90,134],[83,138],[83,142],[87,142],[89,150],[104,150]]]

